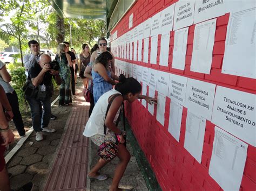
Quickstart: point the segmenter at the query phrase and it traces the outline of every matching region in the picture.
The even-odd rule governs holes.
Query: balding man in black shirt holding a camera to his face
[[[56,131],[55,129],[48,128],[53,89],[51,79],[53,76],[58,85],[60,85],[62,80],[60,79],[59,71],[52,69],[52,67],[54,66],[51,63],[51,57],[47,54],[43,54],[40,56],[39,61],[34,63],[29,69],[28,80],[31,80],[35,90],[33,90],[33,94],[30,95],[25,93],[25,97],[30,105],[32,125],[33,129],[36,131],[37,141],[43,140],[42,131],[49,133]],[[41,104],[44,108],[43,111]]]

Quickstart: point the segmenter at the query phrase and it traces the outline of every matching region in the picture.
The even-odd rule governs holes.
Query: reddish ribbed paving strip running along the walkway
[[[66,122],[62,142],[58,148],[44,190],[85,190],[87,172],[88,138],[82,135],[88,119],[89,105],[82,95]]]

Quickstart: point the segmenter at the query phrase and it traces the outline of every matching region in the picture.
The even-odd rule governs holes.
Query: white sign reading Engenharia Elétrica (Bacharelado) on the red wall
[[[211,121],[216,85],[188,78],[186,107],[188,110]]]

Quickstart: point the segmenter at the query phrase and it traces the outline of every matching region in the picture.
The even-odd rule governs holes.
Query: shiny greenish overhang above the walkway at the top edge
[[[104,19],[112,13],[114,0],[48,0],[60,17]]]

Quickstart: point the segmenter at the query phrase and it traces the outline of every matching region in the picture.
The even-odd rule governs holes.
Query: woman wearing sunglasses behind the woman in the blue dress
[[[110,61],[109,67],[111,68],[112,72],[115,73],[116,72],[116,68],[114,68],[114,55],[110,51],[107,51],[107,41],[106,41],[106,39],[104,37],[99,38],[98,45],[99,45],[99,50],[92,53],[92,55],[91,55],[91,62],[95,61],[97,56],[99,56],[101,53],[109,52],[112,55],[112,58],[113,58]]]

